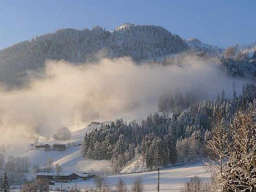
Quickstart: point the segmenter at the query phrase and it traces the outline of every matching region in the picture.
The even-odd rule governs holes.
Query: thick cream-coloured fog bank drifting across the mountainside
[[[145,118],[157,112],[163,94],[182,90],[203,99],[225,89],[231,96],[233,82],[239,89],[244,82],[193,57],[180,64],[182,67],[137,65],[129,58],[86,65],[48,61],[40,78],[31,79],[27,87],[0,92],[1,141],[14,142],[14,137],[16,142],[27,141],[36,128],[46,135],[62,125]]]

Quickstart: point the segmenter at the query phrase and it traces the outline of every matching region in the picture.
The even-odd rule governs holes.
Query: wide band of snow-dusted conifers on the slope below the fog
[[[214,101],[194,103],[172,119],[155,113],[142,120],[141,125],[117,120],[87,133],[82,153],[88,158],[112,160],[114,171],[132,160],[134,152],[144,157],[150,169],[196,161],[209,153],[205,146],[214,138],[215,125],[229,125],[235,113],[249,108],[255,98],[256,86],[246,84],[239,96],[234,90],[234,98],[227,99],[222,92]]]

